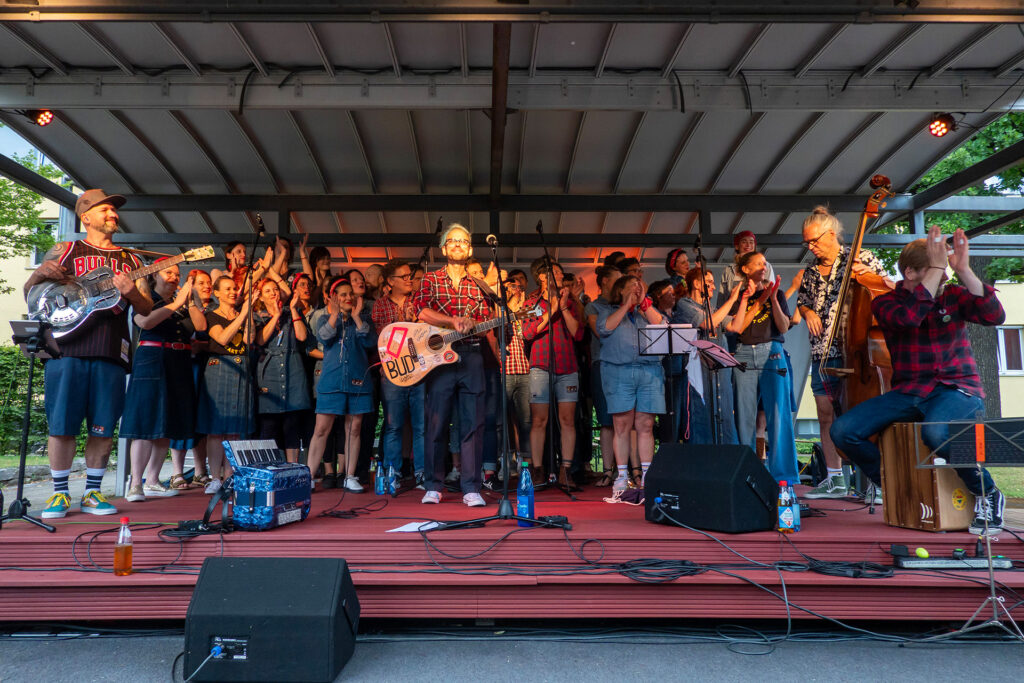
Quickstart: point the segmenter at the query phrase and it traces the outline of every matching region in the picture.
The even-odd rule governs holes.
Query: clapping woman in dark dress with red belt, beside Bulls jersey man
[[[125,496],[129,503],[175,496],[179,488],[187,488],[185,452],[180,449],[171,451],[170,487],[160,482],[170,439],[190,438],[196,431],[191,338],[197,330],[206,330],[206,318],[191,295],[195,278],[180,289],[179,280],[177,265],[146,278],[143,283],[153,295],[153,310],[148,315],[134,315],[139,341],[119,430],[121,438],[131,439],[131,480]]]

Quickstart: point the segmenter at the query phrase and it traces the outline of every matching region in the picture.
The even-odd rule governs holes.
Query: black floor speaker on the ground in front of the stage
[[[359,601],[345,560],[208,557],[185,616],[188,678],[324,681],[352,656]]]

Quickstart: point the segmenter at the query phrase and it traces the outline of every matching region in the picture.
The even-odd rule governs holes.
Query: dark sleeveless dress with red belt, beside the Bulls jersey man
[[[167,303],[154,294],[154,311]],[[121,437],[185,439],[193,436],[196,429],[196,384],[191,371],[194,332],[188,313],[181,310],[174,311],[152,330],[140,332],[121,418]],[[183,348],[155,344],[180,344]]]

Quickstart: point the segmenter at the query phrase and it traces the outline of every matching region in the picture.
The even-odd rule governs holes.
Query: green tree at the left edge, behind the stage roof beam
[[[14,155],[13,159],[50,180],[58,180],[62,175],[56,167],[40,164],[35,152]],[[0,260],[27,256],[35,249],[45,251],[53,245],[50,227],[41,215],[42,198],[38,194],[0,177]],[[0,292],[7,294],[12,291],[14,288],[0,275]]]

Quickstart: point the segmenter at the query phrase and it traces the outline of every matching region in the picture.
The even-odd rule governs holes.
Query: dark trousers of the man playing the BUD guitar
[[[458,346],[459,360],[440,366],[427,376],[426,442],[423,476],[427,490],[440,490],[444,482],[444,458],[447,456],[449,425],[452,413],[459,415],[461,435],[462,493],[480,490],[480,467],[483,455],[483,356],[479,346]]]

